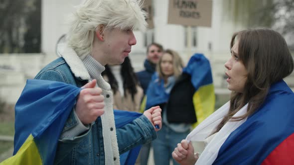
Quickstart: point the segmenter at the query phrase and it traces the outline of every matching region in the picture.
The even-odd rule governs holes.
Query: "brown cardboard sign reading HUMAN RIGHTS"
[[[169,24],[211,26],[212,0],[169,0]]]

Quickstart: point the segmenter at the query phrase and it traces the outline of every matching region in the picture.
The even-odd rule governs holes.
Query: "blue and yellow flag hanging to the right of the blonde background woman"
[[[191,76],[191,83],[195,87],[193,104],[197,122],[193,126],[196,127],[212,114],[215,108],[215,93],[210,63],[203,54],[196,53],[190,58],[187,66],[183,69],[183,73]]]

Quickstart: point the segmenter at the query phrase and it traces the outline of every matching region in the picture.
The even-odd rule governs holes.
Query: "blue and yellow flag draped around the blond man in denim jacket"
[[[53,165],[58,138],[80,90],[67,83],[28,80],[15,105],[13,156],[0,165]],[[114,113],[118,128],[142,115]],[[130,153],[121,156],[121,164],[136,161],[138,153]]]

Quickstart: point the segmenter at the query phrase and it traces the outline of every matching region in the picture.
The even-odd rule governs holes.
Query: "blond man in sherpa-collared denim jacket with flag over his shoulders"
[[[151,107],[117,128],[113,92],[101,76],[106,64],[122,64],[129,56],[137,43],[133,30],[146,28],[141,5],[141,0],[83,0],[77,6],[66,43],[58,46],[61,57],[36,75],[45,82],[27,82],[16,104],[16,161],[3,164],[120,165],[121,154],[156,138],[161,109]]]

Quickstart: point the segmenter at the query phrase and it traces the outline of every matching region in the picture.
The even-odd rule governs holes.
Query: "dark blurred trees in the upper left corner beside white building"
[[[41,0],[0,1],[0,53],[39,53]]]

